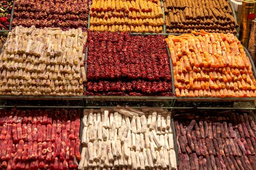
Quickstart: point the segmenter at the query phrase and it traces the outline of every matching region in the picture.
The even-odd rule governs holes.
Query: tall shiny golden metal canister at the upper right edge
[[[256,0],[242,1],[242,15],[239,31],[239,40],[247,48],[252,28],[252,21],[256,17]]]

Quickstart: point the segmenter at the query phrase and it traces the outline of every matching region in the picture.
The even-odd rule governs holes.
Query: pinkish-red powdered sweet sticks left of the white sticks
[[[77,168],[79,118],[80,110],[72,109],[1,110],[0,169]]]

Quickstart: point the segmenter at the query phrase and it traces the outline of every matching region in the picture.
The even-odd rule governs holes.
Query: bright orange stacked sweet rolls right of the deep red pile
[[[177,97],[256,97],[252,64],[234,34],[169,35]]]

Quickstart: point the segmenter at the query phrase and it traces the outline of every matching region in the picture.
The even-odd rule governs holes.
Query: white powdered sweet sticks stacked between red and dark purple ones
[[[154,108],[84,110],[79,170],[177,169],[171,117]],[[164,110],[161,110],[164,111]]]

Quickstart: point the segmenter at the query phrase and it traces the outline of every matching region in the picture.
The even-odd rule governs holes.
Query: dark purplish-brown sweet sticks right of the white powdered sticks
[[[224,112],[176,116],[178,170],[256,170],[253,118]]]

